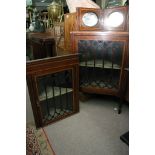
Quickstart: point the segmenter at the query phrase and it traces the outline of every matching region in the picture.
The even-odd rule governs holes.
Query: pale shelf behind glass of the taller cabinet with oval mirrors
[[[120,69],[118,64],[113,63],[110,61],[103,61],[102,60],[89,60],[89,61],[82,61],[80,62],[80,66],[82,67],[96,67],[96,68],[107,68],[107,69]]]

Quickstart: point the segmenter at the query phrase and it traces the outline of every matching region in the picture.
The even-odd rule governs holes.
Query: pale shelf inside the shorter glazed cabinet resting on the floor
[[[53,92],[54,90],[54,92]],[[71,88],[62,88],[62,87],[48,87],[47,88],[47,95],[45,93],[45,91],[41,92],[39,95],[39,101],[44,101],[46,99],[51,99],[53,97],[57,97],[60,95],[64,95],[67,93],[73,92],[73,89]],[[47,98],[46,98],[47,96]]]

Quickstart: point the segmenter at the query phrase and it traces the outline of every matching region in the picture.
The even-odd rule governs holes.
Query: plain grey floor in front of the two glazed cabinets
[[[44,127],[56,155],[128,155],[120,135],[129,130],[129,105],[117,114],[118,100],[93,96],[80,112]]]

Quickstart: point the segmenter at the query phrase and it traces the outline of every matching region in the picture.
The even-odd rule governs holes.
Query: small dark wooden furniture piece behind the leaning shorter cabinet
[[[27,36],[31,59],[42,59],[56,56],[56,41],[50,33],[32,33]]]

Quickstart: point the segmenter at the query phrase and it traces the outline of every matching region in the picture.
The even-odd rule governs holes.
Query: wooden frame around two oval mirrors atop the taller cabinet
[[[129,22],[128,22],[128,6],[113,7],[108,9],[96,9],[96,8],[77,8],[77,30],[78,31],[119,31],[128,32]],[[85,13],[93,12],[98,16],[98,23],[94,26],[86,26],[82,21],[82,17]],[[124,17],[124,21],[117,27],[107,26],[105,20],[113,12],[120,12]]]

